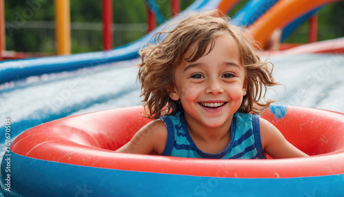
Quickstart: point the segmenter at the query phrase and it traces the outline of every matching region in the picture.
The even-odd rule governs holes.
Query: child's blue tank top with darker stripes
[[[183,112],[161,116],[168,131],[167,144],[162,155],[186,158],[266,158],[261,145],[259,116],[235,113],[230,126],[230,142],[217,154],[198,149],[189,134]]]

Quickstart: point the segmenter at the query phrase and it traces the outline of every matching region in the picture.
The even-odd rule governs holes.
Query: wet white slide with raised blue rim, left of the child
[[[114,50],[1,62],[0,117],[3,120],[12,117],[11,139],[30,127],[87,113],[89,109],[140,105],[139,87],[135,85],[136,74],[133,74],[136,71],[132,67],[141,46],[150,42],[155,32],[187,12],[213,10],[219,2],[197,0],[175,19],[166,21],[138,41]],[[5,133],[3,124],[0,122],[0,133]],[[0,135],[0,146],[4,142],[5,136]],[[2,155],[0,152],[0,157]]]

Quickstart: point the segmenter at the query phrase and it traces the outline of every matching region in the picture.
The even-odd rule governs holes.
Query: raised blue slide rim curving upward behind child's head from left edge
[[[78,68],[88,68],[94,65],[135,59],[139,56],[138,51],[142,45],[152,42],[151,37],[153,34],[162,30],[166,25],[180,19],[188,12],[215,9],[219,6],[220,2],[221,0],[196,0],[177,17],[162,23],[162,25],[159,25],[158,28],[151,33],[138,39],[138,41],[123,45],[119,48],[114,48],[114,50],[72,54],[68,56],[50,56],[37,59],[3,61],[0,63],[0,84],[16,79],[23,79],[28,76],[76,70]]]

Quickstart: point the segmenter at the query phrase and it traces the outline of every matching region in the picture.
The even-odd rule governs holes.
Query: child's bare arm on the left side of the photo
[[[116,152],[133,154],[162,154],[167,143],[167,128],[161,120],[144,125],[131,140]]]

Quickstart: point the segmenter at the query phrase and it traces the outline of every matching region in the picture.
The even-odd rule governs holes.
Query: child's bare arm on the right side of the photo
[[[270,122],[259,118],[261,143],[263,145],[264,152],[272,158],[292,158],[308,156],[301,150],[294,147],[289,143],[286,138],[279,132],[274,125]]]

